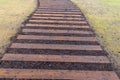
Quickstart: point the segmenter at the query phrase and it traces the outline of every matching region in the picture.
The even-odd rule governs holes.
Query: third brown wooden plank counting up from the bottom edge
[[[102,50],[99,45],[58,45],[58,44],[27,44],[13,43],[10,48],[22,49],[58,49],[58,50]]]

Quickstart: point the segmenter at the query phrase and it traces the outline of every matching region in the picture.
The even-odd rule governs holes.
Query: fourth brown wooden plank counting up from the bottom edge
[[[31,40],[68,40],[68,41],[97,41],[96,37],[70,37],[70,36],[36,36],[36,35],[18,35],[17,39]]]

